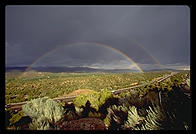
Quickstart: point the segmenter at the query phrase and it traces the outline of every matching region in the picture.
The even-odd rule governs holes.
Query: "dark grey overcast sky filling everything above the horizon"
[[[80,42],[88,43],[68,45]],[[28,66],[41,56],[34,65],[132,68],[130,57],[143,69],[156,63],[189,66],[190,9],[7,6],[5,45],[6,66]]]

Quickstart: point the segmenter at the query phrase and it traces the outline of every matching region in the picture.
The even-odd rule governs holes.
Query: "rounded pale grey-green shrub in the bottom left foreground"
[[[22,106],[22,110],[33,120],[31,128],[48,129],[49,122],[54,123],[64,115],[63,107],[47,97],[34,99]]]

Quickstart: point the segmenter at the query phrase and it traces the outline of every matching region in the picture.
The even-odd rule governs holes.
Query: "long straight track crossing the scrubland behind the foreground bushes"
[[[151,81],[150,83],[145,83],[145,84],[141,84],[141,85],[136,85],[136,86],[132,86],[132,87],[128,87],[128,88],[122,88],[122,89],[118,89],[118,90],[113,90],[111,91],[112,94],[116,95],[116,94],[119,94],[119,93],[122,93],[124,91],[128,91],[128,90],[131,90],[131,89],[134,89],[134,88],[138,88],[138,87],[142,87],[142,86],[146,86],[146,85],[149,85],[149,84],[153,84],[155,82],[162,82],[166,79],[168,79],[169,77],[173,76],[177,74],[177,72],[172,72],[171,74],[169,75],[166,75],[166,76],[162,76],[156,80],[153,80]],[[61,97],[61,98],[53,98],[53,100],[56,100],[56,101],[65,101],[65,102],[72,102],[77,96],[72,96],[72,97]],[[26,104],[28,101],[26,102],[19,102],[19,103],[11,103],[11,104],[7,104],[5,105],[5,108],[7,109],[10,109],[10,110],[21,110],[22,109],[22,105]]]

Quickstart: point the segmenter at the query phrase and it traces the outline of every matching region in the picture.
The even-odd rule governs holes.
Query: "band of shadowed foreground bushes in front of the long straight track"
[[[171,90],[161,90],[161,95],[157,87],[145,88],[148,92],[142,95],[139,89],[119,95],[102,90],[80,95],[63,106],[46,97],[34,99],[23,105],[18,113],[22,118],[7,125],[15,129],[59,130],[63,122],[88,117],[103,120],[108,130],[192,128],[191,100],[182,92],[183,86],[172,83]]]

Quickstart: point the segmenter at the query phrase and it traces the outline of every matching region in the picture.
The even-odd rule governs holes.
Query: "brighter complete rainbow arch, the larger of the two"
[[[43,59],[44,57],[46,57],[47,55],[49,54],[52,54],[53,52],[55,52],[59,47],[62,47],[62,46],[72,46],[72,45],[82,45],[82,44],[92,44],[92,45],[97,45],[97,46],[102,46],[102,47],[105,47],[105,48],[108,48],[110,50],[112,50],[113,52],[116,52],[120,55],[122,55],[123,57],[125,57],[128,61],[130,61],[130,63],[134,64],[135,67],[140,71],[140,72],[144,72],[142,70],[142,68],[132,59],[130,58],[127,54],[123,53],[122,51],[116,49],[116,48],[113,48],[109,45],[106,45],[106,44],[103,44],[103,43],[96,43],[96,42],[77,42],[77,43],[71,43],[71,44],[65,44],[65,45],[58,45],[57,47],[49,50],[48,52],[44,53],[42,56],[40,56],[38,59],[36,59],[31,65],[29,65],[24,72],[26,71],[29,71],[31,69],[31,67],[33,65],[35,65],[36,63],[38,63],[41,59]]]

